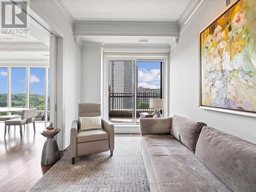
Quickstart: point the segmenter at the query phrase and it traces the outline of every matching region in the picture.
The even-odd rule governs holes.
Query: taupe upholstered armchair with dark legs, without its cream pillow
[[[79,103],[78,117],[101,116],[100,103]],[[102,119],[101,130],[79,131],[79,123],[74,120],[70,131],[70,156],[72,164],[78,156],[89,155],[110,150],[110,155],[114,151],[114,124]]]

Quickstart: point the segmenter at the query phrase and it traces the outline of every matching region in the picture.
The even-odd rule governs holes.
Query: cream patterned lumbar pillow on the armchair
[[[79,117],[79,131],[101,130],[101,117]]]

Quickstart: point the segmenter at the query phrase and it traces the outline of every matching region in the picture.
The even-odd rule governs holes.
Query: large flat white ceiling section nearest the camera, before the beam
[[[75,20],[177,22],[194,0],[61,0]]]

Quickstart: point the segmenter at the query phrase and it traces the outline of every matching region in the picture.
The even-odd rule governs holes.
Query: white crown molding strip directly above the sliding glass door
[[[168,44],[104,44],[102,51],[154,51],[169,52]]]

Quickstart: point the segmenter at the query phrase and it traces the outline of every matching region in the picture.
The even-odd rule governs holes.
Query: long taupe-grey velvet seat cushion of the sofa
[[[158,191],[231,191],[174,137],[144,135],[141,139],[142,153],[150,170],[148,178],[160,184]]]

